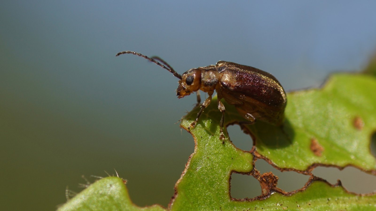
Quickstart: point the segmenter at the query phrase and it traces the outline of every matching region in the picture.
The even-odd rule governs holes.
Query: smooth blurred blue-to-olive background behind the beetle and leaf
[[[374,1],[2,2],[1,209],[56,209],[67,185],[82,190],[81,175],[94,181],[90,175],[114,168],[137,205],[167,206],[194,149],[175,123],[196,97],[178,100],[171,73],[141,57],[115,57],[119,51],[158,55],[179,73],[226,60],[272,73],[285,90],[318,87],[330,72],[367,65],[376,49],[374,8]]]

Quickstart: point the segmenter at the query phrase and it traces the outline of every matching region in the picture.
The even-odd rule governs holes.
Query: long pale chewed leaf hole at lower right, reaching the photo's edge
[[[376,191],[376,176],[362,172],[355,167],[349,166],[339,170],[335,167],[318,166],[312,173],[326,179],[331,184],[337,183],[337,180],[340,179],[342,186],[353,193],[366,194]]]

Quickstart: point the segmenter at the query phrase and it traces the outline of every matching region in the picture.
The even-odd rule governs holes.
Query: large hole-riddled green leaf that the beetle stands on
[[[310,173],[306,170],[313,164],[338,167],[354,165],[374,171],[376,161],[370,154],[369,146],[371,133],[376,128],[376,97],[370,90],[376,90],[374,78],[338,74],[331,77],[323,89],[290,93],[286,121],[282,127],[264,122],[246,126],[256,142],[253,155],[269,160],[276,167],[291,168],[306,174]],[[372,206],[376,204],[376,196],[366,199],[348,194],[342,187],[331,188],[323,182],[313,182],[307,190],[293,196],[273,194],[267,201],[253,202],[232,200],[229,193],[230,175],[233,171],[250,172],[253,156],[251,152],[237,149],[230,140],[224,144],[219,140],[221,113],[216,107],[216,100],[213,98],[196,127],[190,130],[196,142],[195,152],[176,186],[177,196],[172,209],[248,209],[267,201],[274,205],[279,201],[291,204],[296,198],[299,198],[299,203],[304,203],[311,202],[318,196],[318,191],[323,193],[323,198],[317,199],[315,206],[323,209],[327,206],[342,209],[349,207],[352,200],[360,199],[365,200],[364,203],[370,202]],[[233,106],[224,105],[225,124],[244,121]],[[187,130],[197,112],[198,108],[182,120],[183,128]],[[355,124],[354,121],[359,119],[364,121],[364,125],[359,122]],[[312,143],[315,147],[311,147]],[[317,190],[317,187],[323,189]],[[336,202],[325,201],[324,198],[329,196],[344,196],[346,200],[341,202],[343,206],[337,206]],[[366,203],[367,206],[370,203]]]

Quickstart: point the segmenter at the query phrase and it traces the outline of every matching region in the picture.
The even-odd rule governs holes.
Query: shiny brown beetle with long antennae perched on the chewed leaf
[[[218,109],[222,112],[220,121],[220,139],[224,143],[223,124],[226,109],[220,101],[222,98],[230,105],[235,105],[240,115],[254,124],[257,119],[273,125],[281,125],[287,104],[286,93],[279,81],[270,73],[251,66],[233,62],[219,61],[215,65],[192,68],[182,75],[177,73],[167,62],[159,57],[147,57],[134,51],[122,51],[121,54],[134,54],[156,63],[179,78],[176,89],[178,98],[197,93],[197,106],[200,105],[199,90],[209,97],[200,105],[196,119],[190,124],[194,128],[202,112],[211,102],[214,90],[218,95]],[[158,62],[159,61],[159,62]]]

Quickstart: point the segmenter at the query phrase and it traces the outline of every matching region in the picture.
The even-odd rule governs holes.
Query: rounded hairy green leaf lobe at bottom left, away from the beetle
[[[140,208],[134,205],[123,179],[106,177],[100,179],[73,197],[59,211],[64,210],[164,210],[159,205]]]

